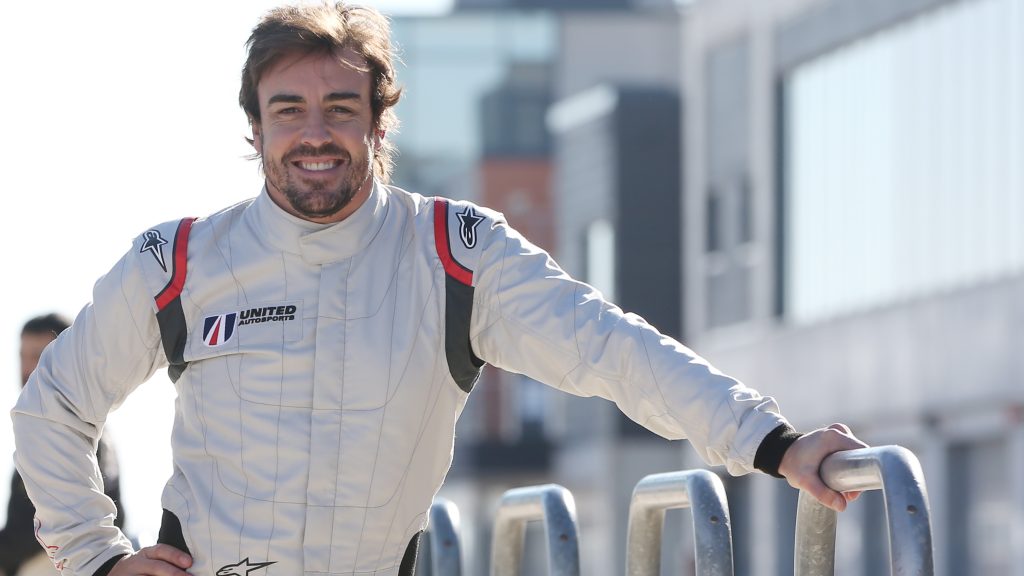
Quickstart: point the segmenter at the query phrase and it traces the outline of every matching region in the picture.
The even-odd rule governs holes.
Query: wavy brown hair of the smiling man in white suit
[[[391,44],[391,26],[376,9],[344,2],[274,8],[253,29],[246,47],[249,54],[242,68],[239,105],[249,116],[250,124],[260,121],[256,95],[259,80],[282,56],[337,53],[351,48],[367,60],[365,72],[371,77],[374,129],[393,132],[398,128],[398,117],[393,110],[401,98],[394,70],[397,56]],[[381,138],[374,155],[374,175],[385,183],[391,177],[394,154],[394,145],[388,138]]]

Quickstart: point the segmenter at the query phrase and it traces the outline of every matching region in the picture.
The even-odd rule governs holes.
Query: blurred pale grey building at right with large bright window
[[[937,574],[1022,573],[1024,4],[717,0],[684,31],[687,341],[798,427],[913,450]],[[729,497],[737,574],[792,574],[793,491]],[[844,574],[889,570],[865,500]]]

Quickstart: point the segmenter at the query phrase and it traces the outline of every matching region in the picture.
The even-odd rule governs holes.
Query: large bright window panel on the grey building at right
[[[950,3],[783,88],[795,323],[1024,271],[1024,11]]]

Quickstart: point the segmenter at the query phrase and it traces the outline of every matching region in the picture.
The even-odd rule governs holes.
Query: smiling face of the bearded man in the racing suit
[[[256,87],[261,119],[253,146],[263,156],[270,198],[296,216],[340,221],[370,195],[380,140],[370,73],[355,69],[366,64],[350,48],[286,55]]]

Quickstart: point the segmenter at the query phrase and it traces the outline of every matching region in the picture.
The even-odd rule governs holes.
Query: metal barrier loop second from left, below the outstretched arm
[[[544,521],[548,575],[580,576],[575,502],[556,484],[514,488],[502,496],[490,544],[492,576],[519,576],[526,523]]]

